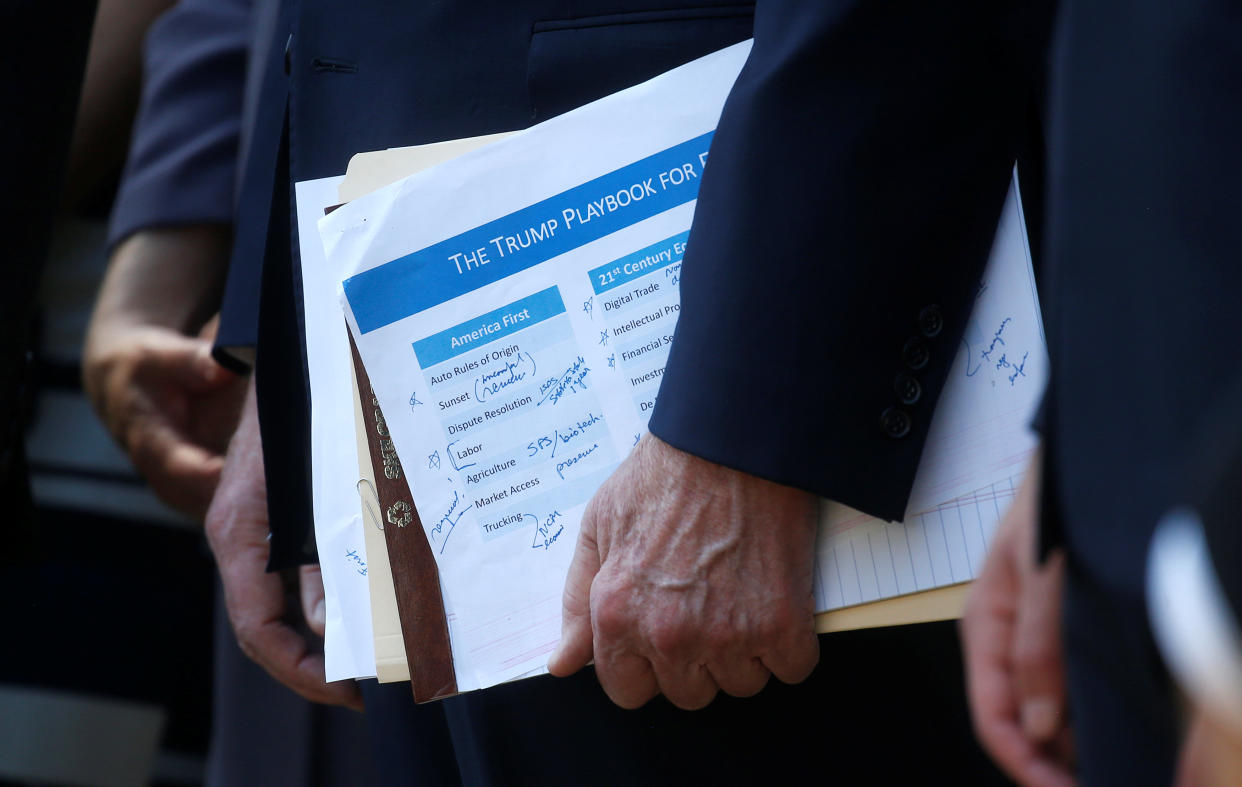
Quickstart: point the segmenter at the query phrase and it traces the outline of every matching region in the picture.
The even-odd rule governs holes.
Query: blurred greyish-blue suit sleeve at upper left
[[[232,220],[248,30],[247,0],[183,0],[152,26],[109,245]]]

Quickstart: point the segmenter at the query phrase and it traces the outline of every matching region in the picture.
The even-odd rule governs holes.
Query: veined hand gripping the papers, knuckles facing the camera
[[[622,708],[663,693],[697,709],[773,674],[805,679],[820,655],[816,511],[810,493],[643,437],[582,516],[549,672],[594,657]]]

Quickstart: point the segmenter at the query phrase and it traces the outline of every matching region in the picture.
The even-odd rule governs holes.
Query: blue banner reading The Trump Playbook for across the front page
[[[364,334],[698,197],[714,132],[344,282]]]

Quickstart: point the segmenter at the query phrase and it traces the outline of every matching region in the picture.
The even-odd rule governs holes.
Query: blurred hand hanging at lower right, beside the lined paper
[[[970,711],[984,749],[1016,782],[1073,785],[1061,650],[1064,555],[1036,562],[1041,457],[1005,514],[961,619]]]

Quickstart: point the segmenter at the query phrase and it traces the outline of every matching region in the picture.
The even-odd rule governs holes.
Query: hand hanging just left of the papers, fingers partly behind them
[[[353,680],[325,683],[323,655],[293,628],[281,576],[267,572],[267,490],[253,384],[237,433],[229,444],[220,487],[207,511],[206,531],[224,582],[229,619],[246,655],[308,700],[361,710],[361,696]],[[322,636],[319,569],[303,566],[298,580],[302,614]]]

